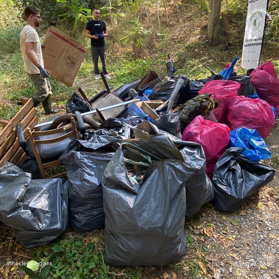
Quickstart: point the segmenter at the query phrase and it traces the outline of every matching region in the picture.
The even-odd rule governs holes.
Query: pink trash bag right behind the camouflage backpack
[[[218,107],[213,110],[213,113],[218,122],[227,123],[228,101],[232,97],[237,96],[237,89],[239,87],[240,83],[232,80],[212,80],[204,84],[198,93],[215,93]]]

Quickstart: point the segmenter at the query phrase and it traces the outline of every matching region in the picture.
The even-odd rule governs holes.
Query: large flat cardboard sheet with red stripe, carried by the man
[[[49,71],[51,77],[63,82],[67,87],[72,86],[82,64],[86,47],[54,26],[47,30],[43,44],[45,69]]]

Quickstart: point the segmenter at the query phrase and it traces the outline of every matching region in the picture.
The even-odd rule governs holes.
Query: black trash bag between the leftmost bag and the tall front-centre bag
[[[81,232],[104,227],[102,177],[114,153],[70,151],[60,157],[66,168],[69,195],[69,225]]]

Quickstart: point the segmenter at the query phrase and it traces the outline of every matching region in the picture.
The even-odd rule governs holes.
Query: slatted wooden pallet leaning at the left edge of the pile
[[[21,98],[21,101],[23,106],[11,121],[5,119],[0,120],[3,127],[0,133],[0,167],[2,167],[6,161],[16,166],[21,166],[26,159],[24,150],[17,142],[16,124],[21,122],[24,137],[27,138],[26,127],[33,130],[34,126],[38,123],[32,98]]]

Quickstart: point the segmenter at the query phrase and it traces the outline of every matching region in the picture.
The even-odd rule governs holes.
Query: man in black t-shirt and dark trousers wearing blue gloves
[[[94,64],[94,73],[96,80],[100,79],[100,70],[98,66],[99,56],[103,65],[103,73],[107,79],[110,79],[106,63],[106,46],[104,37],[108,37],[108,30],[104,21],[100,20],[100,10],[93,9],[93,20],[88,21],[86,25],[86,38],[91,39],[91,53]]]

